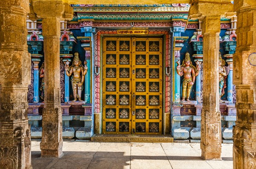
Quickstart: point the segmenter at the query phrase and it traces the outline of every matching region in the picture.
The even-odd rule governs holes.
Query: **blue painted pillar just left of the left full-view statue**
[[[70,54],[70,52],[72,52],[73,46],[77,43],[76,38],[72,34],[73,32],[64,30],[60,38],[60,57],[63,58],[62,62],[64,62],[64,64],[71,62],[70,58],[73,57],[73,54]],[[64,102],[66,103],[70,100],[70,78],[66,73],[64,74]]]

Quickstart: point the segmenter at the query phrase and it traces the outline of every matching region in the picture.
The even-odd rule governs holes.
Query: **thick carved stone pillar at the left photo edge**
[[[26,42],[29,0],[0,3],[0,168],[30,169],[28,85],[31,60]]]

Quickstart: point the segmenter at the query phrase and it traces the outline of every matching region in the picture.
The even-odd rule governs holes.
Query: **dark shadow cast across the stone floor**
[[[204,161],[199,156],[140,156],[124,155],[124,152],[74,152],[64,151],[61,158],[41,158],[40,151],[32,151],[35,169],[130,169],[132,160]],[[223,157],[222,161],[232,161]]]

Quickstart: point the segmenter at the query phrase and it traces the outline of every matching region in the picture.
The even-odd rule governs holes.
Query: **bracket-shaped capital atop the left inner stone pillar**
[[[72,20],[73,8],[64,0],[32,0],[30,19],[57,17],[60,20]]]

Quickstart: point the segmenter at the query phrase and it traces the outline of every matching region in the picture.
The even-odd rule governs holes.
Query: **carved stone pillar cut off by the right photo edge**
[[[236,126],[233,126],[233,168],[256,167],[256,2],[235,0],[237,46],[233,54]]]

